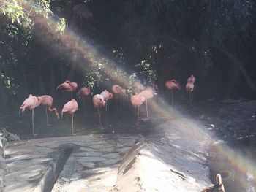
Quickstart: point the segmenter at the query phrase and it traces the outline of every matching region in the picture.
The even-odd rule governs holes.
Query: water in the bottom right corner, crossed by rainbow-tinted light
[[[222,175],[225,191],[256,191],[256,139],[244,137],[226,144],[214,145],[208,155],[211,181],[217,173]]]

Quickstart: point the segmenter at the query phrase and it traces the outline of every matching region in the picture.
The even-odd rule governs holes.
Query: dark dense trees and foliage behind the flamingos
[[[0,1],[0,107],[67,79],[102,91],[124,75],[159,91],[194,74],[255,93],[255,10],[252,0]]]

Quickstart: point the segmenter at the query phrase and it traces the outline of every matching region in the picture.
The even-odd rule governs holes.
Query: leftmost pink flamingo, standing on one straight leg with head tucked
[[[28,108],[29,110],[32,110],[32,128],[33,128],[33,135],[34,134],[34,108],[38,107],[41,104],[42,98],[39,96],[32,96],[31,94],[29,95],[29,97],[27,99],[25,99],[25,101],[23,101],[23,104],[20,106],[20,113],[24,112],[26,110],[26,108]]]

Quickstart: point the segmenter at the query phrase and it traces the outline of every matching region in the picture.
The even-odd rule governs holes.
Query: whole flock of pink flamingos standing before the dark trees
[[[195,83],[195,77],[191,75],[191,77],[188,78],[187,80],[187,91],[189,92],[189,99],[190,99],[190,104],[192,104],[191,101],[191,93],[194,90],[194,83]],[[151,99],[156,95],[156,90],[157,86],[152,85],[150,87],[144,88],[143,85],[140,84],[140,82],[137,82],[138,85],[135,85],[137,91],[135,95],[131,96],[131,103],[134,107],[138,108],[138,115],[137,115],[137,127],[140,128],[139,126],[139,112],[140,112],[140,106],[146,102],[146,115],[148,118],[148,99]],[[75,92],[78,88],[78,84],[76,82],[70,82],[69,80],[66,80],[64,83],[59,85],[56,90],[62,90],[71,93],[71,101],[68,101],[66,104],[64,104],[64,107],[61,110],[61,117],[63,116],[63,113],[66,112],[69,115],[72,115],[72,134],[74,134],[74,120],[73,120],[73,115],[74,113],[78,110],[78,102],[75,99],[72,99],[72,93]],[[176,80],[169,80],[165,82],[165,88],[168,90],[172,91],[172,104],[173,104],[173,90],[178,89],[181,90],[181,85],[176,82]],[[112,91],[113,93],[110,93],[109,91],[105,90],[102,91],[100,94],[96,94],[93,96],[93,104],[94,108],[97,108],[98,113],[99,113],[99,126],[102,128],[102,120],[101,120],[101,115],[99,108],[105,107],[105,111],[107,112],[107,104],[108,100],[113,99],[113,94],[115,95],[116,99],[124,99],[124,96],[126,94],[126,90],[122,88],[120,85],[113,85],[112,86]],[[137,93],[138,92],[138,93]],[[83,87],[80,88],[78,91],[78,95],[85,99],[91,94],[91,88],[90,87]],[[56,118],[59,117],[59,113],[56,110],[56,108],[53,108],[53,98],[48,95],[44,96],[33,96],[29,95],[29,97],[23,101],[23,104],[20,106],[20,112],[24,112],[26,109],[32,110],[32,128],[33,128],[33,135],[34,134],[34,108],[38,107],[39,105],[45,106],[45,112],[46,112],[46,118],[47,118],[47,124],[49,126],[49,120],[48,120],[48,110],[50,112],[54,112],[56,115]],[[107,115],[105,115],[107,117]],[[106,118],[107,121],[107,118]]]

